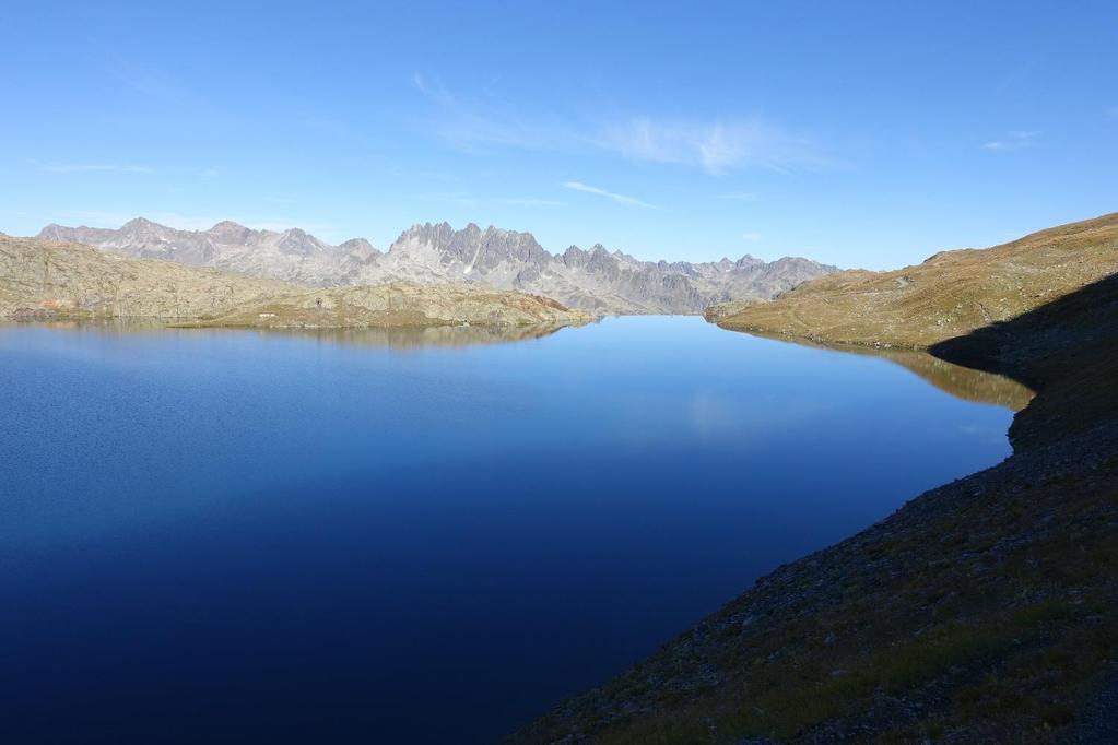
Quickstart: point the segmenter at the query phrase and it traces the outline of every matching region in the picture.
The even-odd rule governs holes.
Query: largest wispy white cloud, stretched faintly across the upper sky
[[[631,160],[691,165],[711,174],[743,168],[788,172],[834,165],[812,140],[760,118],[740,121],[667,121],[648,116],[601,122],[555,114],[524,114],[495,96],[456,94],[413,76],[413,84],[434,106],[434,134],[468,152],[518,147],[549,152],[597,152]]]

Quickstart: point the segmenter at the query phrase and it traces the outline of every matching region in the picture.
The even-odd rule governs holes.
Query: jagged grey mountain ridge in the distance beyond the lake
[[[253,230],[230,221],[209,230],[177,230],[143,218],[117,230],[50,225],[38,237],[316,287],[468,283],[605,313],[701,313],[717,303],[770,299],[837,271],[799,257],[642,261],[601,245],[551,254],[530,232],[474,223],[461,230],[447,222],[416,225],[387,252],[361,238],[332,246],[299,228]]]

